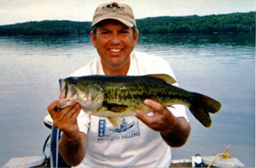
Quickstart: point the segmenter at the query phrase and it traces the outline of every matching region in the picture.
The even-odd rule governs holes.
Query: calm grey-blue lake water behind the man
[[[174,159],[229,153],[254,166],[255,44],[248,34],[141,35],[135,50],[165,58],[180,87],[222,102],[205,129],[188,112],[192,133]],[[42,120],[58,97],[58,78],[93,59],[88,37],[0,37],[0,166],[11,157],[41,155],[50,130]]]

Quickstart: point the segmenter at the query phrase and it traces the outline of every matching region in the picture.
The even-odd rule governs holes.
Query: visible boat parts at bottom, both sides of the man
[[[41,156],[26,156],[26,157],[14,157],[8,160],[3,165],[4,168],[12,167],[71,167],[65,163],[61,155],[57,150],[57,142],[60,138],[60,131],[57,127],[53,126],[52,118],[48,114],[43,120],[44,125],[48,129],[52,129],[52,134],[46,138],[46,142],[43,145],[43,155]],[[51,141],[49,141],[51,138]],[[46,155],[45,150],[47,144],[51,144],[50,155]],[[224,153],[215,156],[201,156],[199,154],[192,156],[189,159],[171,160],[170,167],[245,167],[240,160],[235,157],[231,157],[227,153],[230,148],[224,151]]]

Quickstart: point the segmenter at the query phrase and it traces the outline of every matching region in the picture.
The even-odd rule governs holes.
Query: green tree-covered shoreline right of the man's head
[[[199,17],[157,17],[137,20],[142,34],[249,33],[255,31],[255,12]]]

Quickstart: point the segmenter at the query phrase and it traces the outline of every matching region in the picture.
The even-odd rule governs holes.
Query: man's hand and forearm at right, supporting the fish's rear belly
[[[176,118],[168,108],[150,99],[144,100],[144,104],[152,108],[153,115],[149,116],[141,110],[137,110],[137,118],[150,129],[159,131],[161,137],[172,147],[185,144],[190,133],[190,124],[185,118]]]

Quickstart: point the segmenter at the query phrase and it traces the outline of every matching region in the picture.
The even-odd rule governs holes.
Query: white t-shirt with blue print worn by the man
[[[163,73],[175,78],[172,68],[161,57],[142,52],[131,54],[128,76]],[[72,76],[95,74],[104,75],[99,57],[75,71]],[[176,117],[187,118],[183,106],[175,105],[175,108],[170,109]],[[159,132],[148,128],[136,117],[122,118],[121,128],[117,129],[107,118],[81,111],[78,124],[79,130],[87,134],[86,155],[78,167],[168,167],[170,165],[171,148],[161,138]]]

